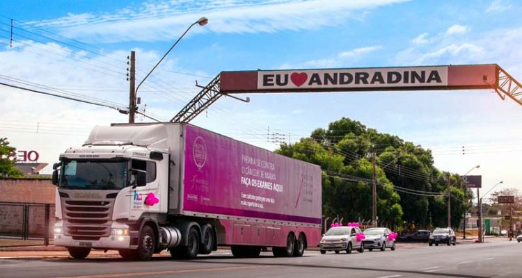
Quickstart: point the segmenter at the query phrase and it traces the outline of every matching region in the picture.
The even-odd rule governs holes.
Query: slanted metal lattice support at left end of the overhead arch
[[[180,112],[178,112],[171,122],[190,122],[199,113],[204,111],[210,104],[219,99],[223,94],[219,89],[219,78],[216,76],[210,83],[201,90],[196,97],[191,99]]]

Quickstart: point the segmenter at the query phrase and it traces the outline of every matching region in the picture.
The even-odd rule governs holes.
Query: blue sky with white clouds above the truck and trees
[[[509,0],[1,1],[0,82],[31,81],[125,106],[129,51],[141,81],[202,16],[209,24],[193,26],[140,89],[146,113],[169,120],[198,92],[196,79],[206,84],[222,70],[498,63],[522,79],[521,11]],[[37,149],[47,163],[81,144],[92,126],[127,120],[14,89],[0,87],[0,96],[0,136]],[[294,142],[350,117],[432,149],[441,170],[463,174],[480,164],[474,173],[484,188],[504,180],[522,189],[522,107],[488,90],[244,97],[251,103],[219,99],[193,124],[275,149],[271,133]],[[463,156],[461,146],[475,153]]]

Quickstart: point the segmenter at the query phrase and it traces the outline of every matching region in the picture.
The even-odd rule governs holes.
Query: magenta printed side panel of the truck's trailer
[[[184,211],[321,223],[321,169],[187,125]]]

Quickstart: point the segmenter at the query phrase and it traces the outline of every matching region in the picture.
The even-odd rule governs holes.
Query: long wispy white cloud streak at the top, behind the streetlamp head
[[[408,0],[170,1],[146,3],[139,10],[126,8],[103,15],[71,14],[31,24],[54,28],[68,38],[79,40],[150,42],[177,38],[202,15],[209,18],[209,24],[194,28],[191,33],[271,33],[337,26],[365,10],[404,1]]]

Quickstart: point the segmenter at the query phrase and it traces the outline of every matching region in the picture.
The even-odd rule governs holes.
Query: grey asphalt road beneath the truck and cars
[[[152,261],[119,258],[3,259],[0,277],[522,277],[522,243],[502,241],[457,246],[416,245],[395,251],[235,259],[227,250],[192,261],[159,256]]]

